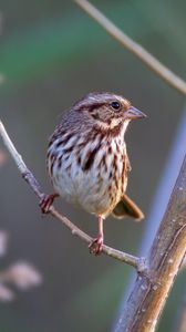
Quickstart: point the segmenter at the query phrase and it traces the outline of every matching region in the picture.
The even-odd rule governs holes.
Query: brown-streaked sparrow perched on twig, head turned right
[[[90,93],[63,116],[50,138],[48,170],[55,194],[41,200],[48,212],[61,196],[99,218],[99,235],[90,251],[99,255],[103,246],[103,220],[144,215],[125,194],[131,170],[124,134],[131,120],[146,115],[131,102],[113,93]]]

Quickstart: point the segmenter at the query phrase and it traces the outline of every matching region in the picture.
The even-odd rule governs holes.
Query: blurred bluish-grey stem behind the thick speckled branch
[[[184,108],[183,116],[179,120],[179,125],[177,133],[175,135],[175,142],[170,148],[169,155],[167,157],[166,166],[162,175],[162,179],[159,181],[158,188],[156,190],[151,212],[148,217],[148,221],[145,227],[145,232],[143,235],[142,245],[140,249],[140,253],[142,256],[146,256],[151,245],[153,242],[153,239],[155,237],[155,234],[157,232],[158,225],[161,220],[163,219],[166,206],[168,204],[169,199],[169,193],[173,190],[174,184],[176,181],[176,178],[178,176],[179,169],[182,167],[182,163],[185,155],[185,145],[183,142],[186,142],[186,110]],[[184,266],[186,264],[186,259],[184,261]],[[135,273],[131,272],[130,281],[127,284],[127,288],[125,293],[123,294],[123,300],[120,304],[118,312],[116,315],[116,319],[113,323],[113,330],[115,329],[115,322],[117,322],[118,318],[121,317],[124,307],[126,305],[126,300],[131,293],[131,290],[133,288],[133,284],[135,282]]]

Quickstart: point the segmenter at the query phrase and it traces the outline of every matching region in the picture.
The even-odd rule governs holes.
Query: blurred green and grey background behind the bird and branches
[[[185,1],[93,1],[128,35],[186,80]],[[127,193],[142,206],[143,224],[105,222],[105,242],[137,253],[151,203],[169,153],[184,97],[123,49],[73,1],[1,0],[0,117],[27,165],[52,188],[45,170],[48,137],[60,114],[91,91],[123,94],[148,115],[131,125],[126,141],[133,170]],[[2,79],[2,76],[1,76]],[[0,148],[4,149],[0,143]],[[84,242],[51,217],[13,162],[0,168],[0,228],[11,247],[6,267],[28,259],[43,273],[43,284],[0,304],[0,331],[110,331],[131,268],[105,256],[89,255]],[[58,208],[94,236],[95,218],[64,201]],[[157,220],[158,222],[158,220]],[[178,277],[158,332],[170,331],[185,272]]]

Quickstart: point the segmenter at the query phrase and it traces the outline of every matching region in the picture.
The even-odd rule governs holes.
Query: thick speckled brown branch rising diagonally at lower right
[[[186,157],[163,221],[115,332],[153,332],[186,252]]]

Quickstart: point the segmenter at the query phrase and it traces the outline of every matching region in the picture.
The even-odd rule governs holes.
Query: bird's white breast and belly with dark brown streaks
[[[71,144],[50,147],[48,168],[60,196],[89,212],[107,215],[126,188],[125,156],[121,137],[97,137],[94,142],[81,138],[73,148]]]

